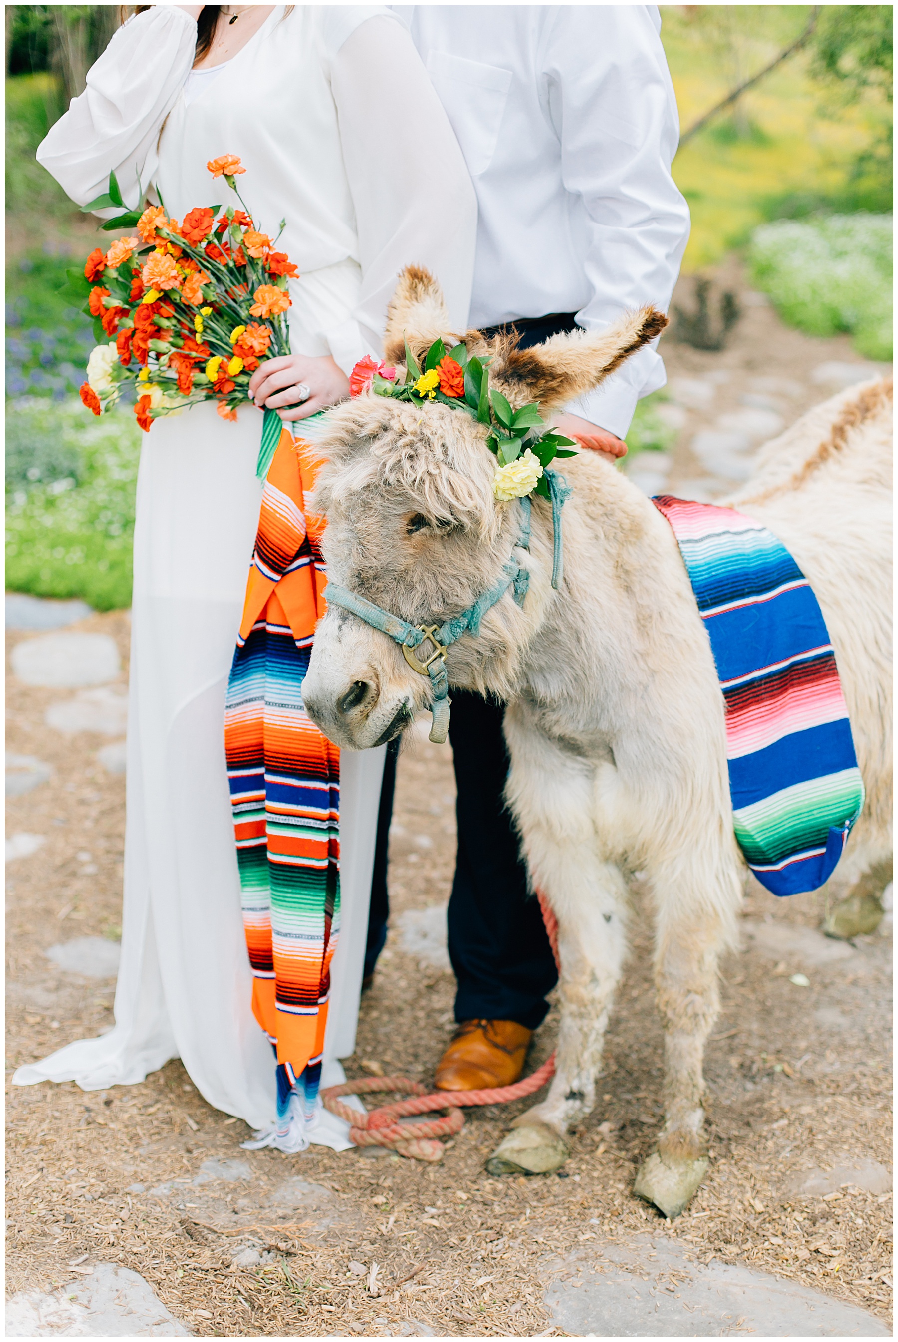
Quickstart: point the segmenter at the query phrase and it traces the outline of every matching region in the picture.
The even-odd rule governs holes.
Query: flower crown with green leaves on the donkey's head
[[[568,451],[573,439],[564,437],[552,428],[544,429],[545,420],[536,401],[513,411],[502,392],[490,391],[489,365],[491,357],[468,354],[463,342],[452,349],[435,340],[424,356],[424,368],[405,341],[405,376],[383,360],[365,356],[352,370],[349,391],[360,396],[370,389],[375,396],[389,396],[396,401],[421,405],[442,401],[452,409],[464,411],[471,419],[486,424],[486,446],[498,458],[493,478],[497,499],[507,501],[540,494],[550,498],[545,467],[556,456],[576,456]],[[544,429],[544,432],[540,432]]]

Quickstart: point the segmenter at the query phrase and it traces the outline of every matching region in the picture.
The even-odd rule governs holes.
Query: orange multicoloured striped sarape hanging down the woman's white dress
[[[282,429],[262,495],[224,725],[252,1011],[277,1055],[277,1121],[246,1145],[286,1151],[307,1146],[317,1110],[340,931],[340,750],[302,702],[325,611],[323,519],[305,510],[315,470],[309,442]]]

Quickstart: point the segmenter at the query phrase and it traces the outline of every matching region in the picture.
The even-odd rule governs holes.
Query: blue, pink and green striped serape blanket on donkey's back
[[[835,654],[797,564],[734,509],[652,499],[670,522],[726,703],[733,823],[775,895],[832,874],[863,805]]]

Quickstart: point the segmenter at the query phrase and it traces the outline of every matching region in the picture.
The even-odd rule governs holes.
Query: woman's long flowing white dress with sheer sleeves
[[[294,353],[345,372],[379,353],[396,275],[424,264],[463,325],[475,203],[458,144],[401,24],[376,7],[278,7],[216,72],[191,79],[196,24],[154,7],[130,19],[39,160],[85,204],[115,169],[136,207],[176,217],[238,204],[207,160],[236,153],[256,227],[301,271]],[[187,89],[185,89],[185,85]],[[140,187],[138,187],[140,181]],[[259,1127],[275,1115],[271,1047],[252,978],[224,761],[224,694],[262,486],[262,415],[215,407],[156,420],[141,455],[128,730],[122,958],[115,1025],[13,1080],[133,1084],[180,1056],[216,1108]],[[299,427],[301,431],[301,427]],[[384,752],[341,758],[342,931],[332,972],[322,1083],[354,1048]],[[349,1145],[321,1115],[313,1141]]]

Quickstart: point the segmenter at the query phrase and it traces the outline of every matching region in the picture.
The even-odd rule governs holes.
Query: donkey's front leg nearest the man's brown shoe
[[[595,773],[542,737],[515,733],[507,796],[533,884],[558,919],[561,1027],[549,1095],[515,1119],[487,1162],[493,1173],[557,1169],[561,1139],[595,1102],[596,1074],[626,954],[626,886],[603,862],[592,816]]]

